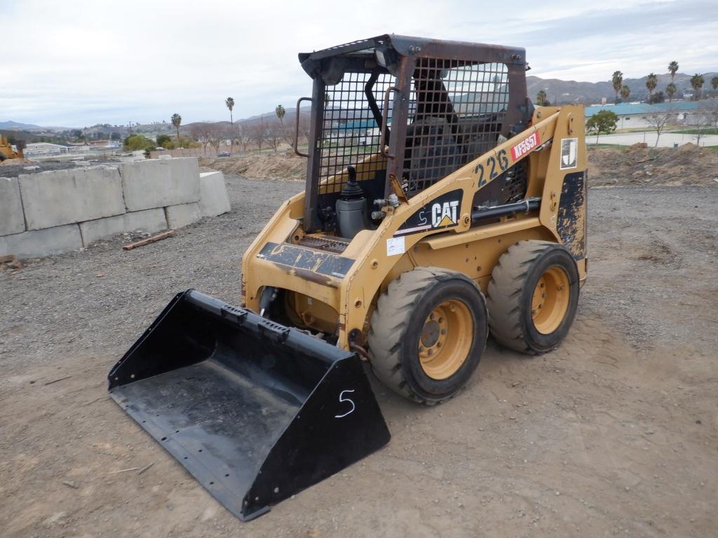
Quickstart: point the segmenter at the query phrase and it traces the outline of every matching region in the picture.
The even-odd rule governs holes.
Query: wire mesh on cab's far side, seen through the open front
[[[386,170],[386,159],[379,155],[381,127],[365,95],[367,72],[346,72],[336,85],[327,86],[324,121],[320,137],[322,161],[319,167],[322,192],[338,192],[347,180],[346,167],[357,169],[358,179],[373,179],[377,171]],[[394,77],[378,75],[371,93],[381,109],[383,95],[393,85]],[[391,107],[388,123],[391,124]]]

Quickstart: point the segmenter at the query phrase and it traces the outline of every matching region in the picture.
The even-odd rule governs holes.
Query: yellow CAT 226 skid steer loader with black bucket
[[[241,519],[388,443],[365,369],[434,404],[489,332],[559,346],[586,278],[582,106],[521,48],[383,35],[299,55],[306,188],[242,260],[242,306],[177,295],[112,397]]]

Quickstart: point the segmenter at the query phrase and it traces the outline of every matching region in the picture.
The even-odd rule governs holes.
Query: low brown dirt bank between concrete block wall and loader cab
[[[218,159],[202,157],[200,166],[251,179],[304,181],[307,174],[307,159],[290,151],[246,157],[220,157]]]

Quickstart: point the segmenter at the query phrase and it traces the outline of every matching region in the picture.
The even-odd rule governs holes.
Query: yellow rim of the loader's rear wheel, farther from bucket
[[[541,334],[551,334],[559,328],[569,309],[569,275],[560,267],[546,270],[536,283],[531,299],[533,326]]]

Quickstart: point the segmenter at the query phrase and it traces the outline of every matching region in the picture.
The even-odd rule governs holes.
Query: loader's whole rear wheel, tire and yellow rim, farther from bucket
[[[491,273],[491,334],[510,349],[546,353],[566,338],[578,301],[578,269],[566,247],[550,241],[518,242]]]

